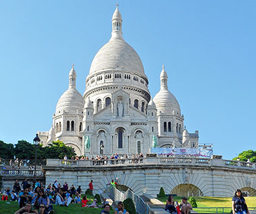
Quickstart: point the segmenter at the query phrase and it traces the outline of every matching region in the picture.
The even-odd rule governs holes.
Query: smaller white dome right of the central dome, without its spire
[[[174,97],[168,89],[161,89],[153,100],[154,103],[156,103],[156,109],[158,109],[158,111],[162,113],[172,113],[172,111],[175,111],[181,115],[180,105],[176,97]]]

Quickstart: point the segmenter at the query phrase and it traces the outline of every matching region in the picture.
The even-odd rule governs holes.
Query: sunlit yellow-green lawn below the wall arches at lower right
[[[158,197],[159,201],[166,203],[168,197]],[[181,197],[174,197],[174,201],[181,203]],[[203,207],[228,207],[224,209],[224,213],[230,213],[232,207],[232,197],[195,197],[197,201],[197,207],[193,210],[198,213],[216,213],[216,208],[207,208]],[[245,197],[245,201],[248,207],[256,207],[256,197]],[[218,208],[218,213],[222,213],[222,209]]]

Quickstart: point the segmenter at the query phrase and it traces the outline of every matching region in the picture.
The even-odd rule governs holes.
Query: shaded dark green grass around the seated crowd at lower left
[[[6,203],[5,201],[0,201],[0,213],[3,214],[13,214],[15,211],[18,211],[19,205],[18,202]],[[102,208],[90,208],[82,207],[81,204],[70,204],[69,207],[61,207],[53,205],[55,214],[99,214]],[[114,211],[110,211],[111,214],[114,214]]]

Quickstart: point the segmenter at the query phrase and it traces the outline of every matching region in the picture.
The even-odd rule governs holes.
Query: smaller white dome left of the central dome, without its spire
[[[61,111],[73,111],[79,112],[83,111],[84,107],[84,98],[82,95],[75,89],[75,87],[69,87],[67,91],[61,95],[57,107],[56,107],[56,114]]]

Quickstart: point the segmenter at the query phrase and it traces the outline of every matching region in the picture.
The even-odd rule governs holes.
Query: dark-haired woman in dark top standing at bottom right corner
[[[233,214],[249,214],[249,209],[245,203],[245,198],[242,195],[242,191],[237,189],[234,192],[234,197],[232,198],[232,213]]]

